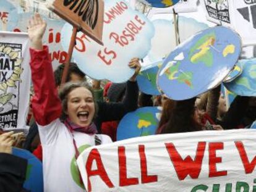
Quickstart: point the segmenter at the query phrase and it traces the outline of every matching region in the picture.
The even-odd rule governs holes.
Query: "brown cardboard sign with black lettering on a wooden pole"
[[[97,43],[103,44],[104,2],[102,0],[53,0],[48,4],[48,8]]]

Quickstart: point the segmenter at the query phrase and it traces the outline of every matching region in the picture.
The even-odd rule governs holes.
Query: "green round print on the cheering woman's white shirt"
[[[79,154],[81,154],[85,149],[90,148],[90,144],[84,144],[78,148]],[[72,158],[71,164],[70,164],[70,172],[72,175],[72,178],[77,185],[80,186],[83,190],[85,190],[85,186],[83,186],[83,183],[80,183],[80,177],[79,177],[79,168],[77,166],[77,161],[75,157]]]

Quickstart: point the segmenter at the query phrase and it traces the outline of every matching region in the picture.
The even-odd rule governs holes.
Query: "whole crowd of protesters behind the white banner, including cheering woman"
[[[138,107],[163,107],[156,134],[246,128],[255,120],[255,98],[237,96],[228,108],[220,86],[184,101],[140,93],[137,58],[128,64],[135,72],[126,83],[107,82],[104,88],[101,81],[87,83],[85,73],[70,63],[68,82],[61,85],[64,64],[53,72],[48,46],[42,43],[45,29],[45,21],[35,14],[28,24],[33,81],[30,129],[20,146],[43,163],[45,191],[83,191],[72,180],[72,158],[79,156],[85,143],[116,141],[119,121]],[[12,131],[0,135],[0,191],[25,191],[27,161],[12,155],[14,135]]]

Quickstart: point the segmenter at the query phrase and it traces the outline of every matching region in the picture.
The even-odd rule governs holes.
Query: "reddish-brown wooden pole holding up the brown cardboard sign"
[[[77,36],[77,28],[73,27],[72,36],[71,36],[70,43],[69,43],[69,52],[67,52],[67,59],[65,61],[65,67],[64,67],[64,70],[62,73],[61,85],[66,83],[66,80],[67,80],[67,73],[69,72],[69,63],[70,63],[70,60],[71,60],[71,57],[73,54],[76,36]]]

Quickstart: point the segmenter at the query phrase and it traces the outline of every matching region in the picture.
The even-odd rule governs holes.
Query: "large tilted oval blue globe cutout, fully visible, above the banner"
[[[158,88],[174,100],[205,93],[229,74],[241,49],[240,36],[229,28],[200,31],[164,60],[158,72]]]

